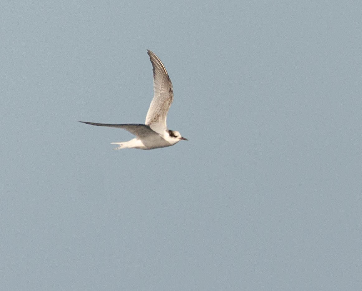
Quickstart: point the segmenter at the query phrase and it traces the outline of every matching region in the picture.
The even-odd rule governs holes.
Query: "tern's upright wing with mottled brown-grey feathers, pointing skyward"
[[[167,129],[166,118],[173,100],[172,83],[165,66],[150,50],[147,50],[153,68],[153,99],[146,116],[146,125],[156,132]]]

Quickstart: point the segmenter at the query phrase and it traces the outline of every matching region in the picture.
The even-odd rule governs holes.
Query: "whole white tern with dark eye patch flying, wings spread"
[[[145,124],[106,124],[79,121],[90,125],[123,128],[135,135],[128,142],[118,144],[122,148],[153,149],[169,147],[180,140],[188,140],[180,132],[167,128],[166,119],[173,100],[172,83],[161,60],[150,50],[147,50],[153,70],[153,99],[146,115]]]

